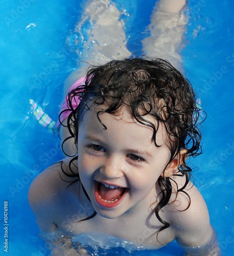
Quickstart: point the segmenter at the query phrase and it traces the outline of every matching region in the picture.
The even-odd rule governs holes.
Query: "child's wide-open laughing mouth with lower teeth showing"
[[[103,207],[112,208],[120,204],[129,188],[112,186],[95,181],[95,199]]]

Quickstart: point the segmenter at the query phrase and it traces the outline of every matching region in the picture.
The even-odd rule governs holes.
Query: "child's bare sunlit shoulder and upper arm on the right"
[[[178,187],[184,184],[184,177],[175,177]],[[174,201],[174,202],[173,202]],[[199,190],[189,183],[183,191],[174,189],[172,204],[167,208],[176,240],[182,246],[201,246],[213,236],[206,203]]]

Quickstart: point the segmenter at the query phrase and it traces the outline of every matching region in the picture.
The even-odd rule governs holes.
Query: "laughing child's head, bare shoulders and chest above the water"
[[[201,152],[199,111],[179,71],[162,59],[113,60],[89,69],[67,106],[77,155],[44,170],[29,191],[55,251],[74,243],[71,250],[85,255],[74,241],[100,233],[102,245],[109,234],[132,249],[176,240],[187,255],[220,255],[206,204],[190,181],[189,157]]]

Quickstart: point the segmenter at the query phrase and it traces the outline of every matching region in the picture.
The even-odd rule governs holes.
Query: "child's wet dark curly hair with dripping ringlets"
[[[80,100],[76,107],[72,104],[74,99]],[[103,104],[105,107],[100,110]],[[104,129],[108,127],[101,121],[100,115],[102,113],[118,115],[124,106],[137,122],[151,127],[155,146],[160,146],[156,143],[156,134],[159,124],[163,125],[168,135],[166,143],[171,151],[170,161],[180,150],[186,150],[182,164],[178,166],[178,173],[175,175],[185,176],[185,183],[181,188],[176,184],[177,193],[182,192],[189,197],[184,188],[190,182],[192,168],[185,159],[202,153],[201,133],[198,127],[200,110],[196,106],[191,83],[168,61],[147,57],[128,58],[90,67],[85,84],[68,93],[67,105],[68,109],[64,111],[71,112],[67,119],[67,127],[71,137],[75,139],[76,146],[79,123],[82,122],[84,112],[91,106],[99,106],[97,118]],[[153,117],[157,125],[147,120],[146,116]],[[75,159],[77,156],[71,160],[71,163]],[[79,172],[72,172],[67,176],[76,178],[75,182],[80,180]],[[158,232],[170,226],[160,218],[159,211],[170,201],[172,182],[175,181],[170,177],[160,176],[158,179],[161,200],[156,203],[153,210],[157,219],[164,225]]]

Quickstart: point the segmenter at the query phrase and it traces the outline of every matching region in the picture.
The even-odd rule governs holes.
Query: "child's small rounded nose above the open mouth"
[[[103,166],[100,168],[100,173],[107,179],[116,179],[124,176],[124,165],[120,158],[111,157],[106,159]]]

